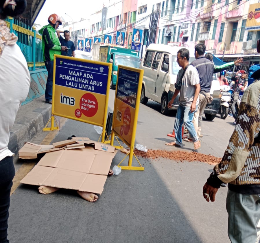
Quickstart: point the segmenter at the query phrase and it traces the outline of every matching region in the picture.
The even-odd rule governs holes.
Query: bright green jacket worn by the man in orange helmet
[[[45,25],[40,30],[42,34],[43,60],[53,61],[54,54],[61,55],[61,45],[54,27]]]

